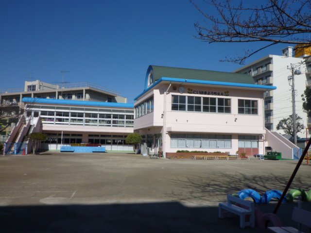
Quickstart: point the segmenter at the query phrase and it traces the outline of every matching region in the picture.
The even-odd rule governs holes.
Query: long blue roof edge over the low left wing
[[[22,101],[29,102],[29,103],[50,103],[50,104],[70,104],[70,105],[134,108],[133,103],[111,103],[111,102],[95,102],[95,101],[82,101],[82,100],[56,100],[56,99],[40,99],[40,98],[29,98],[29,97],[24,97]]]

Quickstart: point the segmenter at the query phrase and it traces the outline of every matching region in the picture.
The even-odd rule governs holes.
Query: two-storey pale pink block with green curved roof
[[[247,74],[149,66],[134,104],[141,151],[264,154],[263,99],[275,89]]]

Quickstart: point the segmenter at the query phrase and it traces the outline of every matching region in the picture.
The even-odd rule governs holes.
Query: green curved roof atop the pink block
[[[162,77],[165,77],[227,83],[255,84],[253,77],[248,74],[175,67],[152,66],[152,68],[154,70],[153,76],[155,82]]]

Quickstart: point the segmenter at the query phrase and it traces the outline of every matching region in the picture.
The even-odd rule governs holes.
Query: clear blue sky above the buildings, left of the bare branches
[[[60,71],[70,71],[64,82],[104,86],[133,103],[149,65],[231,72],[241,65],[219,60],[259,46],[202,42],[193,24],[203,20],[188,0],[0,0],[0,89],[23,87],[30,73],[62,82]]]

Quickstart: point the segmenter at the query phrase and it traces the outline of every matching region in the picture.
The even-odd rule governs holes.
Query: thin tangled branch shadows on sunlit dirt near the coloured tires
[[[276,189],[283,192],[287,179],[283,176],[267,174],[261,176],[245,175],[236,173],[228,176],[228,174],[219,172],[217,176],[206,174],[205,176],[191,176],[186,178],[170,178],[171,182],[180,188],[181,192],[172,192],[167,194],[175,201],[187,202],[221,202],[226,200],[226,195],[236,194],[242,189],[253,189],[261,196],[268,190]],[[310,184],[305,183],[303,177],[296,177],[289,190],[301,188],[306,191],[311,189]],[[276,201],[276,200],[273,200]]]

